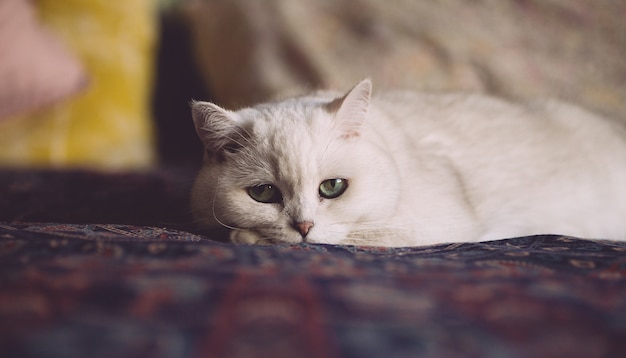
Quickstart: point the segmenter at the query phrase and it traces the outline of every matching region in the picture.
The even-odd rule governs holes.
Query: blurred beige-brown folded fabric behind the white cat
[[[212,99],[313,87],[559,97],[626,118],[623,1],[187,1]],[[307,88],[308,87],[308,88]]]

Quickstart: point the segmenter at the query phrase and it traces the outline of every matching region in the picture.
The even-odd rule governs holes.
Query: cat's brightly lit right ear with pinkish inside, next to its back
[[[361,125],[367,118],[372,95],[372,82],[365,79],[354,86],[345,96],[337,98],[329,104],[335,113],[343,138],[354,138],[360,135]]]

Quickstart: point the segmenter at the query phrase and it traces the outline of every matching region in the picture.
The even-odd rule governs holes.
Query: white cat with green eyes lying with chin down
[[[626,240],[626,129],[559,102],[380,93],[193,102],[192,210],[236,243]]]

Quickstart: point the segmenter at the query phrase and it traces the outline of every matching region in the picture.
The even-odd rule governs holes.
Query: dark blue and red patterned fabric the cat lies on
[[[626,243],[236,246],[0,224],[2,357],[615,357]]]

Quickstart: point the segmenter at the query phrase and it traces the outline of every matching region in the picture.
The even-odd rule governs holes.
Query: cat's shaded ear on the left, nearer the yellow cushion
[[[210,102],[191,101],[191,115],[196,133],[209,153],[234,151],[241,143],[237,140],[240,131],[235,112]]]

